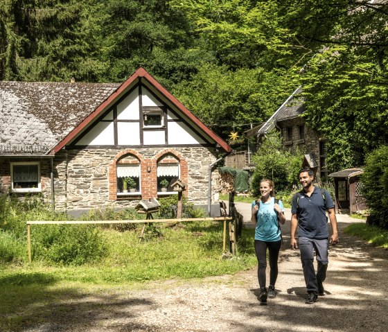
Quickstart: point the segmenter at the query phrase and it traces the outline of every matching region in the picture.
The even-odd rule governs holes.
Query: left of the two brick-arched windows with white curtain
[[[140,164],[117,166],[117,195],[140,195]]]

